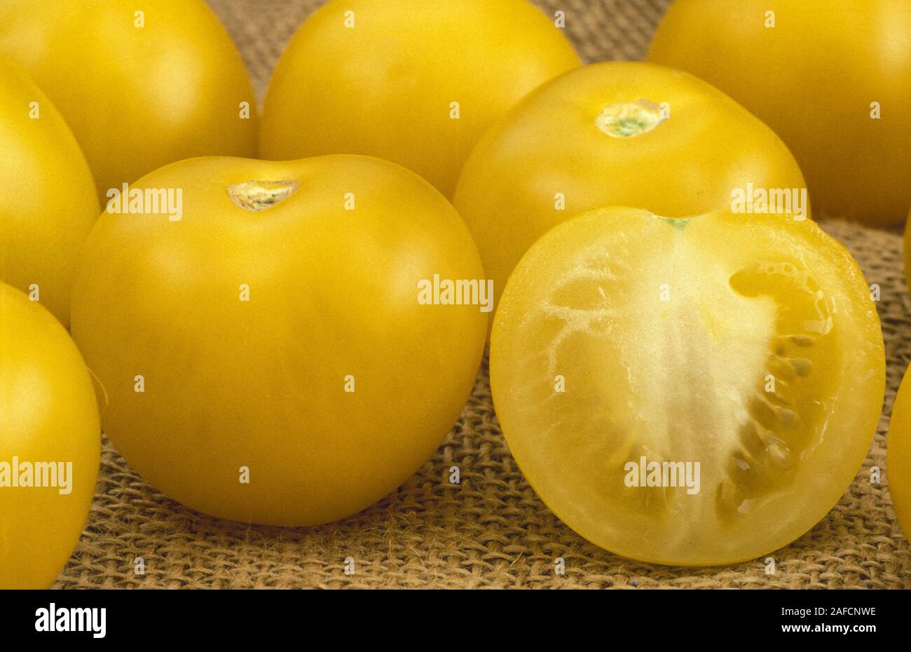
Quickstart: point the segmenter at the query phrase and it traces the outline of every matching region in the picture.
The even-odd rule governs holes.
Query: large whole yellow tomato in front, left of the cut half
[[[130,193],[131,214],[89,236],[73,335],[105,431],[151,484],[215,516],[312,525],[376,502],[439,446],[490,303],[471,234],[429,183],[353,155],[202,158]]]

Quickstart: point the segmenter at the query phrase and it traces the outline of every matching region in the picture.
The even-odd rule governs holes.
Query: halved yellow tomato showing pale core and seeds
[[[569,527],[646,562],[730,564],[838,501],[885,358],[863,274],[813,221],[609,208],[522,259],[490,373],[510,450]]]

